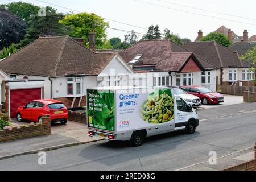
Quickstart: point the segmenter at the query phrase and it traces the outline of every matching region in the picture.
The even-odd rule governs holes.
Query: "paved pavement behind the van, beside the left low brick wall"
[[[18,125],[27,125],[29,122],[12,121]],[[29,153],[35,150],[49,150],[49,148],[64,147],[70,144],[93,142],[101,138],[88,137],[87,126],[83,123],[68,121],[66,125],[53,123],[51,135],[24,138],[0,143],[0,159],[20,153]]]

